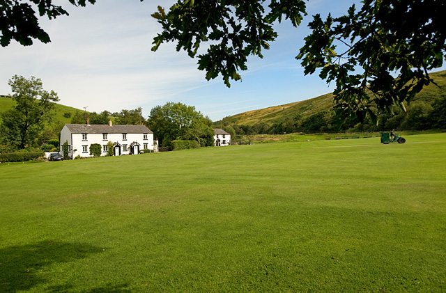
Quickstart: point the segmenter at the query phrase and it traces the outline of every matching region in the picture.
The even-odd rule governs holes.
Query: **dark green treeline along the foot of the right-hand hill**
[[[237,135],[446,129],[446,95],[433,102],[414,101],[407,106],[406,111],[394,106],[390,113],[379,115],[378,121],[376,125],[370,118],[360,122],[358,118],[352,117],[341,123],[334,110],[324,110],[307,117],[296,113],[295,116],[286,117],[272,125],[266,122],[237,125],[224,119],[215,125],[222,125],[226,132],[231,133],[233,130]]]

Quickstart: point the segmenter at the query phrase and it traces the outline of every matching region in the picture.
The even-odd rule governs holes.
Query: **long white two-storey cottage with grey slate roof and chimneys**
[[[90,145],[102,145],[102,156],[107,155],[109,141],[114,144],[114,155],[136,155],[139,150],[153,150],[153,132],[144,125],[66,124],[61,131],[62,145],[68,142],[70,157],[91,157]]]

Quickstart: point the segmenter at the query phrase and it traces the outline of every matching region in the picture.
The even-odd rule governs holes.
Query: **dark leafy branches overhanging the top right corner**
[[[364,0],[342,17],[315,15],[297,58],[305,74],[320,69],[336,82],[339,116],[377,120],[374,106],[378,114],[393,104],[405,111],[403,102],[433,81],[428,72],[445,56],[445,13],[440,0]]]

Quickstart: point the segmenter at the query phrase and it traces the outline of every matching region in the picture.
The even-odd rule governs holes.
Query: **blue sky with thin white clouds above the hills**
[[[35,40],[23,47],[12,41],[0,47],[0,95],[11,94],[13,75],[43,81],[59,103],[77,109],[119,112],[142,107],[148,118],[154,106],[181,102],[213,121],[245,111],[307,100],[334,90],[317,74],[303,73],[295,59],[309,34],[312,15],[344,15],[353,0],[309,0],[308,15],[297,29],[289,22],[275,24],[279,34],[263,58],[249,57],[243,81],[226,88],[221,77],[206,81],[197,58],[176,52],[173,42],[152,52],[153,37],[161,32],[151,14],[157,6],[169,8],[173,0],[98,0],[77,8],[56,0],[70,16],[48,20],[40,26],[52,42]]]

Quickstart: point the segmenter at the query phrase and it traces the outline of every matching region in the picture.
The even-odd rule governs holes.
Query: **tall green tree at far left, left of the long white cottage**
[[[42,81],[35,77],[14,75],[8,84],[17,104],[1,114],[1,132],[8,143],[23,149],[36,141],[45,122],[51,119],[54,102],[59,97],[53,90],[49,93],[43,90]]]

